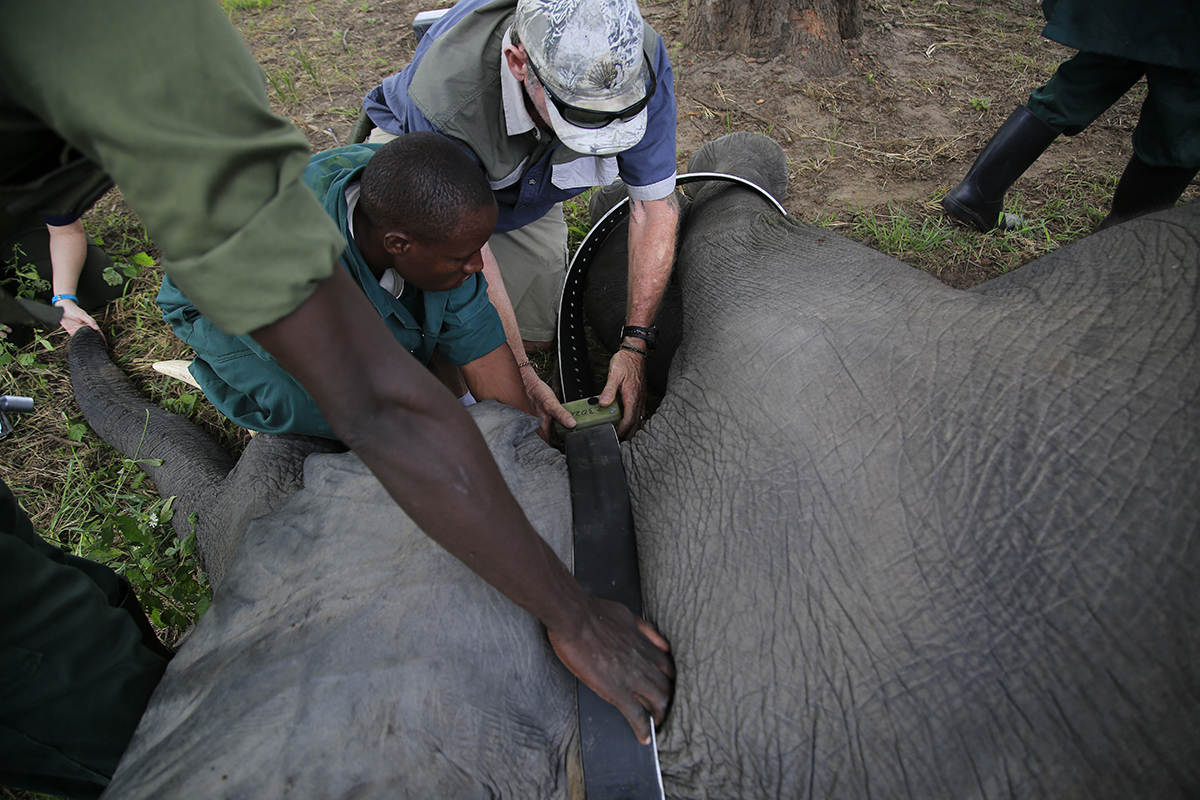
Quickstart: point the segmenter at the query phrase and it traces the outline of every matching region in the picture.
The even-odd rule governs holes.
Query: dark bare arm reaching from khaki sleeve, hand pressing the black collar
[[[624,606],[583,591],[529,524],[474,422],[391,337],[349,273],[334,270],[252,336],[421,530],[541,620],[563,663],[648,741],[646,711],[661,722],[671,698],[666,642]]]

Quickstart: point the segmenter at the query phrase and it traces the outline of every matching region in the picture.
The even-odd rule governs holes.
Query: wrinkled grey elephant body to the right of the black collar
[[[625,459],[667,794],[1188,796],[1195,211],[976,291],[737,188],[690,225]]]

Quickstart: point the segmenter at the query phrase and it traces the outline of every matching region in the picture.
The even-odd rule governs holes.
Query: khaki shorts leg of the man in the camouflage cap
[[[504,277],[526,350],[547,349],[554,342],[566,277],[563,204],[523,228],[494,234],[488,245]]]

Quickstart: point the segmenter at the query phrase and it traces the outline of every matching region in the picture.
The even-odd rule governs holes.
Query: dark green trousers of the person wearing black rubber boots
[[[1147,12],[1148,13],[1148,12]],[[1075,136],[1146,76],[1133,149],[1151,167],[1200,167],[1200,72],[1080,52],[1030,95],[1043,121]]]

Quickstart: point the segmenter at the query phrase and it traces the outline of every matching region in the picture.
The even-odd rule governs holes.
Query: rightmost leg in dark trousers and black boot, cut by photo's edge
[[[1200,72],[1150,65],[1129,158],[1103,230],[1175,205],[1200,172]]]

